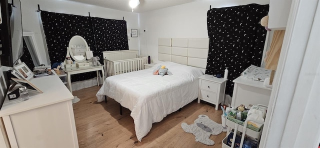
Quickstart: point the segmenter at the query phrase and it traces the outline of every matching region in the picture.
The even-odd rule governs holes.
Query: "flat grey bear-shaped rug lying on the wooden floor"
[[[222,124],[212,121],[207,115],[200,114],[193,124],[181,123],[181,127],[185,132],[192,133],[195,136],[195,141],[206,145],[213,145],[214,141],[209,139],[210,135],[217,135],[222,131],[226,131]]]

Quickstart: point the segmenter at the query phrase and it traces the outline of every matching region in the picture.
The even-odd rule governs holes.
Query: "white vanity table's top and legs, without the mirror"
[[[97,65],[97,66],[92,66],[90,65],[89,67],[73,67],[73,68],[65,68],[64,72],[66,73],[67,76],[67,87],[72,93],[72,86],[71,86],[71,75],[72,74],[77,74],[77,73],[84,73],[84,72],[90,72],[90,71],[96,71],[96,82],[97,85],[99,85],[99,70],[102,72],[102,84],[104,81],[104,65]]]

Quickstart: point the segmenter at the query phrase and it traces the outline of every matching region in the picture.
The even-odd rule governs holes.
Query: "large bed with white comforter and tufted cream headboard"
[[[141,141],[152,123],[197,98],[198,77],[204,74],[207,48],[207,38],[159,38],[158,59],[162,62],[148,69],[107,77],[96,93],[97,99],[103,101],[107,95],[128,108],[136,137]],[[172,75],[153,75],[158,65],[165,65]]]

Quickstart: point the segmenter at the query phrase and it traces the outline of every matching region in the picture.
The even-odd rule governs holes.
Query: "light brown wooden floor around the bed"
[[[153,123],[149,133],[141,142],[137,141],[130,110],[122,109],[119,103],[108,99],[107,103],[96,101],[99,86],[73,91],[80,101],[73,104],[75,126],[79,147],[221,147],[226,133],[211,135],[215,144],[208,146],[196,142],[194,135],[186,133],[181,123],[193,123],[199,114],[205,114],[217,123],[221,123],[221,109],[214,105],[192,101],[181,111],[173,112],[162,121]]]

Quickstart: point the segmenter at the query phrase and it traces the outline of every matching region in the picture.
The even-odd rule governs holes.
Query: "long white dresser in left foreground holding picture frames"
[[[0,147],[78,147],[71,92],[56,74],[30,81],[43,93],[28,91],[26,101],[5,98]]]

